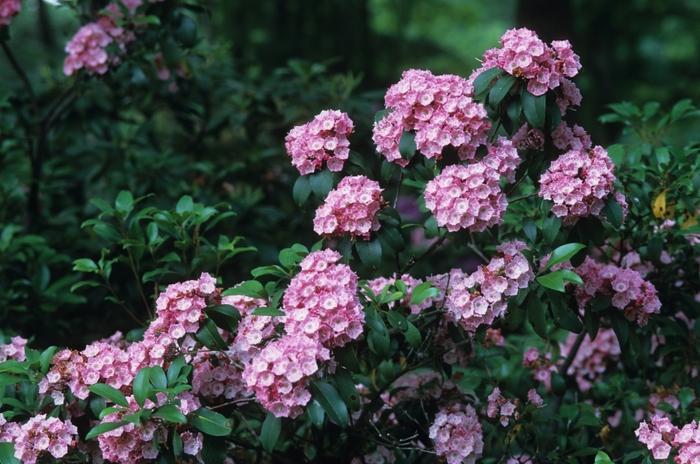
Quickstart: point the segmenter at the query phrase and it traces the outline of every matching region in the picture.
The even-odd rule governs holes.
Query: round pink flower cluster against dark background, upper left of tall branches
[[[348,136],[353,131],[350,117],[338,110],[325,110],[314,119],[294,127],[285,138],[287,154],[301,175],[322,169],[343,169],[350,154]]]

